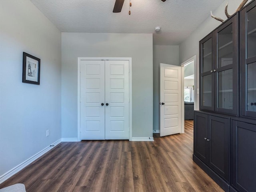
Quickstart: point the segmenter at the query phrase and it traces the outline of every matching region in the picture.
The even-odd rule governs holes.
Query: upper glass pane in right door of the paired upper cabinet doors
[[[218,32],[218,68],[233,64],[232,24]]]

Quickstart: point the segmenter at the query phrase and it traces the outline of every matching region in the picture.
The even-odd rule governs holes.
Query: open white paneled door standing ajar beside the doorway
[[[160,136],[166,136],[182,132],[181,88],[181,67],[161,63]]]

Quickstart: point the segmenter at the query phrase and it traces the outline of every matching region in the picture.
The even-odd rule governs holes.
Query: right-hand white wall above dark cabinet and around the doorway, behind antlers
[[[239,4],[242,0],[225,0],[214,12],[214,16],[218,16],[222,19],[226,19],[225,16],[225,6],[228,2],[228,13],[233,14],[235,10],[238,8]],[[248,1],[250,2],[250,0]],[[219,26],[221,22],[215,20],[210,17],[210,13],[208,18],[200,26],[184,41],[180,44],[180,63],[188,60],[192,56],[196,55],[196,87],[199,88],[199,41],[204,38],[207,34],[209,34],[212,30],[214,30],[217,26]],[[195,109],[199,109],[199,94],[195,94]]]

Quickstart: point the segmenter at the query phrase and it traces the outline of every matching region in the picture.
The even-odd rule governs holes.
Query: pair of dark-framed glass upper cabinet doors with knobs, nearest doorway
[[[238,13],[199,46],[200,110],[238,114]]]

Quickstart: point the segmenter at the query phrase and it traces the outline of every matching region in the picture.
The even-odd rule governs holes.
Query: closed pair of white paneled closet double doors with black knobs
[[[81,140],[129,139],[129,60],[80,61]]]

